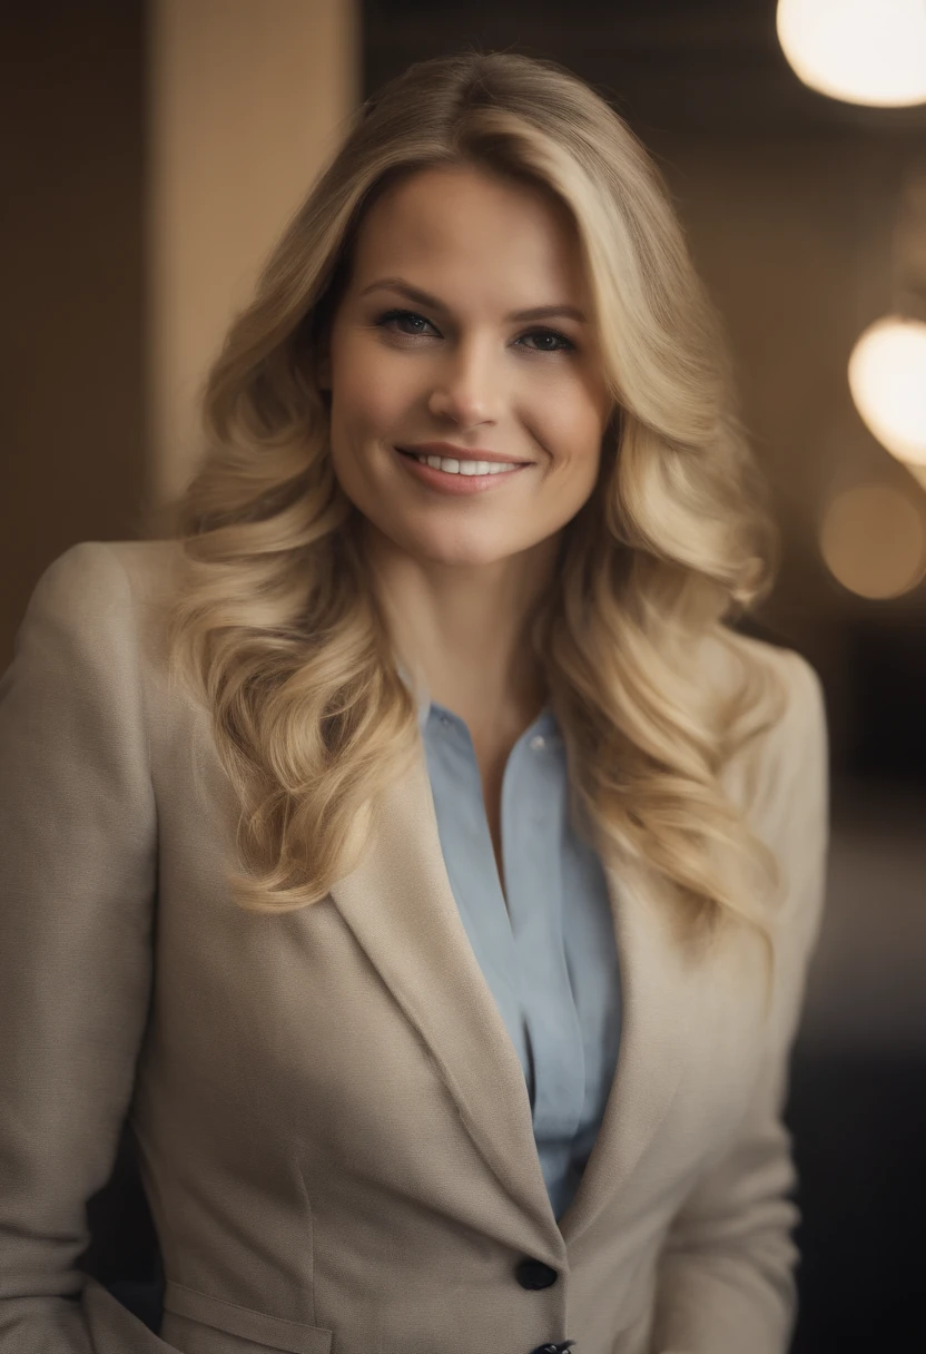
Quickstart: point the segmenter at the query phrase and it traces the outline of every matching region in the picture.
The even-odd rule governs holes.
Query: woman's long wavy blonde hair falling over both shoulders
[[[601,854],[666,886],[692,933],[738,917],[768,938],[776,861],[720,773],[774,718],[768,665],[728,617],[766,594],[776,538],[720,325],[630,129],[555,62],[510,53],[420,62],[357,110],[206,383],[206,450],[176,505],[171,672],[206,701],[241,804],[233,895],[259,911],[324,898],[418,750],[315,357],[370,204],[401,175],[460,164],[571,213],[613,395],[598,483],[529,624],[573,803]],[[739,661],[732,695],[707,681],[705,639]]]

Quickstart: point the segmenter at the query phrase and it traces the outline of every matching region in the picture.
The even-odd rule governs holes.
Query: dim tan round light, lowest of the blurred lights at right
[[[926,574],[923,515],[891,485],[846,489],[823,516],[820,554],[833,577],[858,597],[899,597]]]

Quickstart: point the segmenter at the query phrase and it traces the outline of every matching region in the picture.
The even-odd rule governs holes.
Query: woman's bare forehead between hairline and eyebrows
[[[569,210],[529,183],[468,167],[421,169],[371,206],[353,249],[353,283],[401,275],[426,290],[481,280],[578,301],[583,291]],[[413,276],[410,276],[413,274]]]

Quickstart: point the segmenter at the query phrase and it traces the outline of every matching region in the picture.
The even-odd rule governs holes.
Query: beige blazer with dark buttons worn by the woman
[[[730,772],[791,877],[770,1014],[754,936],[686,961],[611,873],[623,1043],[558,1221],[424,756],[330,896],[230,902],[230,787],[206,711],[165,680],[175,561],[66,551],[0,686],[0,1354],[782,1354],[780,1112],[824,869],[812,669],[743,640],[789,691]],[[160,1336],[76,1266],[126,1116]]]

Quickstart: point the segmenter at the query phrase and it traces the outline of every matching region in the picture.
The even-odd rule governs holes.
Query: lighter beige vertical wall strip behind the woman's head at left
[[[359,99],[355,0],[152,0],[149,501],[198,450],[233,311]]]

